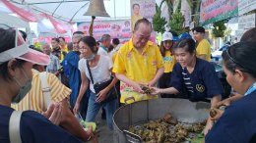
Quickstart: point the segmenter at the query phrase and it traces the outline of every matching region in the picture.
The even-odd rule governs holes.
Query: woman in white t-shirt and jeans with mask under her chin
[[[107,56],[97,55],[96,39],[92,36],[83,37],[79,43],[81,55],[84,57],[79,61],[79,70],[81,71],[81,86],[78,99],[74,108],[74,113],[78,113],[80,108],[80,102],[90,84],[90,97],[88,103],[88,112],[86,121],[96,121],[96,115],[102,106],[106,112],[106,122],[110,129],[112,129],[112,117],[116,109],[116,99],[110,102],[101,104],[106,98],[106,94],[115,85],[117,79],[111,81],[111,83],[96,94],[94,83],[103,82],[111,78],[112,62]],[[93,82],[91,78],[91,73]]]

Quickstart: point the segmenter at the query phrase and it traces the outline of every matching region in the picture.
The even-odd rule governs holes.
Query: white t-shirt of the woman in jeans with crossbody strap
[[[99,61],[96,65],[96,67],[90,68],[95,83],[103,82],[103,81],[110,79],[110,77],[111,77],[110,70],[113,67],[113,63],[108,56],[103,56],[103,55],[99,55],[99,56],[100,56]],[[86,59],[81,59],[79,61],[78,68],[81,72],[86,73],[88,79],[91,80],[90,73],[87,68],[87,60]],[[90,89],[91,89],[91,91],[96,93],[94,85],[91,81],[90,81]]]

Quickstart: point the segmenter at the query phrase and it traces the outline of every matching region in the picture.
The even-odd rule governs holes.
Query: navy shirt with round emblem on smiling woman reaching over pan
[[[186,75],[186,76],[184,76]],[[184,78],[189,78],[185,81]],[[185,82],[190,82],[188,86]],[[171,73],[171,86],[181,94],[186,95],[191,101],[205,101],[224,93],[224,87],[212,64],[202,59],[196,60],[194,71],[189,73],[186,68],[183,70],[179,63],[176,63]]]

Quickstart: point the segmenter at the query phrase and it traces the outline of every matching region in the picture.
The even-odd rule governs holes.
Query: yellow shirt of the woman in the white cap
[[[164,73],[173,71],[173,67],[176,63],[174,55],[170,51],[166,51],[164,57],[162,57]]]

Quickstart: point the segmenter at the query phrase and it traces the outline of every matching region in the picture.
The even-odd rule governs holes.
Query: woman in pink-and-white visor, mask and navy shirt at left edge
[[[21,118],[16,118],[20,119],[16,125],[20,125],[17,136],[10,131],[11,124],[14,124],[11,103],[19,103],[31,90],[32,65],[46,66],[49,57],[30,49],[18,30],[0,28],[0,35],[0,142],[9,143],[15,138],[24,143],[79,143],[61,127],[32,111],[25,111]],[[60,108],[56,106],[55,111]]]

